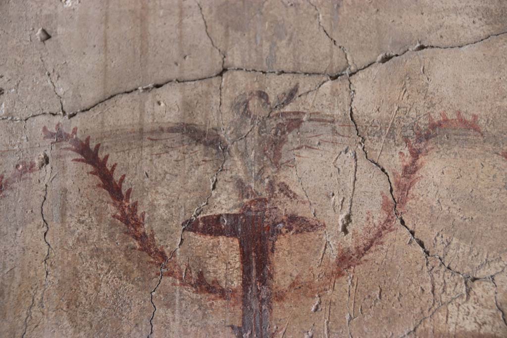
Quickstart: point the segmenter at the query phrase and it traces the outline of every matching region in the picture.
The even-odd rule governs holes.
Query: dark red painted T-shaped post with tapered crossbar
[[[241,326],[233,326],[238,338],[271,337],[273,267],[271,254],[279,235],[322,229],[314,218],[282,215],[269,200],[249,200],[238,213],[206,215],[189,223],[186,231],[208,236],[236,238],[241,257]],[[186,222],[184,223],[186,224]]]

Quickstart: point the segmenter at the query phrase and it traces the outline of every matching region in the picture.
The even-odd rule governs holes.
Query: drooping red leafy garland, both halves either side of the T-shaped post
[[[423,157],[428,155],[431,151],[429,141],[438,135],[439,130],[442,129],[463,129],[475,131],[482,135],[481,129],[477,124],[477,116],[474,115],[471,120],[466,120],[458,112],[455,119],[449,119],[444,113],[438,121],[429,117],[429,123],[424,131],[421,131],[416,126],[416,133],[413,139],[407,139],[406,145],[408,148],[408,155],[400,153],[402,160],[402,169],[400,172],[394,173],[394,196],[396,198],[396,209],[402,213],[409,201],[410,192],[415,183],[420,178],[418,176],[419,170],[424,165]],[[297,126],[296,126],[297,128]],[[164,272],[165,276],[172,277],[179,281],[179,285],[187,286],[194,289],[199,293],[213,294],[219,298],[229,299],[232,296],[237,296],[236,290],[226,289],[218,282],[207,282],[202,271],[194,273],[188,265],[182,269],[173,258],[169,262],[165,250],[158,246],[155,240],[153,231],[147,233],[144,226],[144,213],[140,215],[137,213],[137,202],[130,202],[131,189],[128,189],[125,194],[122,190],[122,183],[125,175],[122,175],[118,181],[114,178],[114,170],[116,164],[107,167],[108,155],[102,159],[98,156],[100,143],[95,145],[93,150],[90,147],[90,138],[87,137],[85,141],[81,141],[77,137],[77,128],[68,134],[64,132],[59,125],[56,127],[55,132],[50,132],[44,127],[43,132],[45,138],[54,139],[55,142],[68,142],[70,147],[67,148],[80,155],[76,162],[83,162],[92,166],[91,174],[97,176],[101,184],[99,187],[104,189],[113,200],[113,204],[117,209],[117,213],[113,215],[116,219],[121,221],[127,227],[127,234],[134,239],[137,243],[139,250],[146,252],[152,261],[156,264],[163,264],[168,270]],[[345,270],[351,269],[360,264],[361,259],[370,252],[372,248],[382,243],[386,234],[394,230],[396,217],[394,214],[394,203],[392,199],[382,194],[381,213],[383,218],[375,223],[370,223],[358,238],[355,244],[348,248],[340,247],[338,255],[334,261],[333,275],[335,277],[343,276]],[[301,293],[305,293],[304,289],[314,289],[315,285],[311,287],[303,284],[298,285],[296,280],[290,289],[298,289]],[[275,291],[275,298],[283,297],[283,294],[289,291],[288,289]]]

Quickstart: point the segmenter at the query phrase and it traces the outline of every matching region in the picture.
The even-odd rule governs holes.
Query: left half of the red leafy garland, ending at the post
[[[222,287],[218,282],[208,282],[202,271],[194,273],[187,265],[182,269],[172,257],[165,252],[162,246],[157,244],[153,230],[148,232],[144,223],[144,212],[140,214],[137,211],[137,201],[131,202],[130,197],[132,188],[123,192],[123,182],[125,174],[118,180],[114,177],[117,164],[111,167],[107,166],[109,155],[99,157],[100,143],[97,143],[93,149],[90,146],[90,136],[82,141],[77,136],[78,129],[75,127],[69,134],[65,132],[59,124],[56,125],[55,132],[43,128],[45,139],[52,139],[54,142],[66,142],[70,146],[66,150],[78,154],[80,157],[73,159],[74,162],[82,162],[93,168],[90,174],[97,176],[100,180],[98,187],[105,190],[113,201],[116,209],[114,218],[118,219],[127,228],[126,234],[129,235],[137,244],[138,250],[148,254],[151,262],[164,268],[164,276],[172,277],[178,281],[178,285],[189,287],[199,293],[213,294],[219,298],[230,298],[234,294],[233,290]]]

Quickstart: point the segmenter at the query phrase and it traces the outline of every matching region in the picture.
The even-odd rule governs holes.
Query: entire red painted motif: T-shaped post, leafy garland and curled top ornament
[[[237,114],[256,120],[256,126],[266,128],[263,123],[269,118],[272,111],[286,106],[297,93],[297,87],[287,94],[277,98],[271,103],[269,96],[262,91],[241,95],[234,103]],[[259,119],[252,112],[250,103],[252,99],[259,100],[261,109],[264,109],[267,118]],[[333,123],[332,119],[321,117],[318,114],[308,114],[301,111],[277,112],[281,120],[269,126],[269,136],[262,137],[256,145],[264,157],[266,170],[277,172],[283,166],[291,166],[290,161],[283,161],[283,146],[287,137],[298,131],[306,123]],[[429,118],[426,129],[416,128],[415,136],[406,139],[408,152],[400,153],[402,167],[394,175],[393,191],[396,200],[396,210],[403,213],[411,198],[411,190],[419,179],[418,173],[424,166],[424,157],[431,152],[431,140],[437,137],[442,129],[463,129],[473,133],[482,134],[477,124],[477,116],[465,119],[459,112],[455,118],[441,114],[438,120]],[[198,125],[176,123],[164,130],[171,134],[186,135],[191,142],[199,143],[205,147],[220,151],[229,150],[230,144],[218,130],[201,128]],[[195,293],[210,297],[227,299],[240,306],[242,316],[241,325],[232,326],[231,329],[237,337],[256,336],[271,337],[274,329],[271,325],[271,313],[276,302],[283,301],[284,295],[291,289],[311,289],[313,292],[322,292],[328,287],[328,282],[308,285],[295,280],[288,288],[280,289],[273,285],[272,259],[274,246],[281,236],[294,236],[302,233],[324,231],[326,225],[317,217],[306,217],[294,213],[286,213],[279,208],[277,194],[282,194],[289,200],[298,203],[300,197],[281,180],[271,180],[264,192],[238,180],[239,189],[245,197],[243,205],[235,211],[197,215],[183,220],[184,231],[197,236],[228,237],[237,242],[241,261],[241,288],[230,288],[221,285],[216,280],[209,280],[202,271],[194,271],[188,264],[180,264],[176,257],[169,259],[170,254],[157,242],[152,231],[148,231],[144,212],[138,211],[137,201],[132,201],[132,189],[123,189],[125,174],[115,175],[116,163],[108,165],[108,155],[100,156],[100,143],[90,144],[90,137],[82,140],[75,127],[66,132],[60,125],[55,131],[43,128],[46,139],[53,142],[66,143],[65,148],[74,152],[77,157],[74,162],[84,163],[92,168],[90,174],[100,181],[98,187],[110,196],[115,209],[113,215],[126,229],[126,234],[135,242],[137,249],[146,253],[154,267],[161,267],[163,276],[172,278],[178,286],[186,287]],[[164,139],[151,138],[152,141]],[[309,151],[319,149],[310,144],[302,144],[297,148]],[[381,210],[371,210],[380,218],[373,221],[371,218],[363,228],[360,236],[355,236],[348,247],[339,247],[336,258],[331,262],[330,278],[339,278],[361,263],[364,257],[373,248],[381,244],[385,236],[395,229],[396,215],[394,202],[391,196],[380,192],[382,197]],[[155,269],[155,268],[154,268]],[[314,293],[314,294],[315,294]]]

